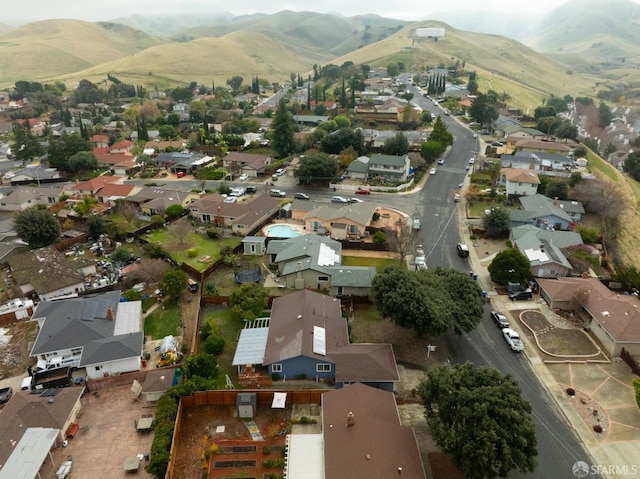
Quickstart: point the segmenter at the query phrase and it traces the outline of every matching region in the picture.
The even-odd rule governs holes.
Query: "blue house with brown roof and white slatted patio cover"
[[[261,364],[268,374],[286,378],[330,383],[340,378],[337,387],[363,382],[393,391],[400,379],[391,344],[349,343],[336,298],[309,290],[280,296],[273,300],[271,317],[258,326],[248,322],[241,331],[233,365]]]

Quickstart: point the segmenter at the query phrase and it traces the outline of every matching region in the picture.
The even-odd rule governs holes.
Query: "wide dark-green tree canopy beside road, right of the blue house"
[[[384,317],[418,336],[441,334],[452,325],[471,331],[482,318],[478,284],[455,270],[388,266],[374,277],[369,296]]]

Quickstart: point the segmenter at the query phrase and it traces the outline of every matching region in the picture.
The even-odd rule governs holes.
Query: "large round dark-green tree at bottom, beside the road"
[[[531,405],[510,375],[467,362],[429,370],[418,386],[436,444],[466,479],[531,473],[538,443]]]

